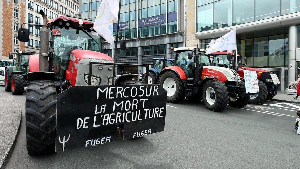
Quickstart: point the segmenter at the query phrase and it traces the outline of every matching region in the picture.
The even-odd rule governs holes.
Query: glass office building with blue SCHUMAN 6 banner
[[[117,62],[151,64],[150,57],[172,58],[171,46],[183,46],[183,0],[121,0],[119,35],[127,40],[126,50],[114,50],[114,45],[105,43],[106,52]],[[81,0],[81,17],[96,18],[101,1]],[[117,10],[117,9],[116,9]],[[116,34],[117,23],[113,31]],[[122,67],[127,73],[141,73],[143,70]]]

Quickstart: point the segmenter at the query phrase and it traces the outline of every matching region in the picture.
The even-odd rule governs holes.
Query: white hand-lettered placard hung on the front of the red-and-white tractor
[[[258,93],[259,86],[256,71],[244,70],[246,93]]]

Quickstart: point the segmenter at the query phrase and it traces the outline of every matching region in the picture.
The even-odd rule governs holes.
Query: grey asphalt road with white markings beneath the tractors
[[[4,87],[0,86],[0,91]],[[294,129],[299,104],[267,101],[208,111],[203,103],[167,105],[165,131],[44,156],[26,151],[22,124],[6,168],[299,168]],[[12,103],[13,104],[13,103]]]

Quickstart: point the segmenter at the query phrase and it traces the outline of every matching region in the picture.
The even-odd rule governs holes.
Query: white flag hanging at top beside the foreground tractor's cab
[[[108,43],[114,44],[113,22],[118,20],[120,0],[102,0],[94,23],[94,30]]]

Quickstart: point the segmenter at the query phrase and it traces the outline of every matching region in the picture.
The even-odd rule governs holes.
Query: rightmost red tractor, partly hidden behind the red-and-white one
[[[217,59],[221,61],[218,64],[214,63],[215,65],[236,70],[236,56],[234,53],[214,52],[212,54],[215,55],[215,62]],[[280,85],[280,83],[274,84],[271,77],[272,72],[257,68],[245,67],[242,64],[242,57],[239,54],[237,56],[239,64],[237,69],[239,76],[244,77],[244,70],[252,70],[255,71],[257,74],[257,79],[259,83],[259,93],[250,95],[249,103],[258,104],[262,103],[263,101],[272,99],[277,94],[278,86]],[[245,64],[247,64],[247,58],[244,58],[244,60]]]

